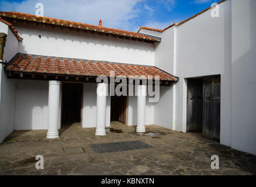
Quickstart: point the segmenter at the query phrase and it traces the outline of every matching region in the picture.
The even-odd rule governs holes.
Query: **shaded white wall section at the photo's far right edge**
[[[232,147],[256,155],[256,1],[250,1],[248,29],[236,29],[232,61]],[[234,26],[235,28],[237,26]],[[249,33],[250,32],[250,33]],[[240,44],[243,40],[243,45]],[[247,44],[247,46],[245,45]],[[235,57],[234,57],[235,56]]]

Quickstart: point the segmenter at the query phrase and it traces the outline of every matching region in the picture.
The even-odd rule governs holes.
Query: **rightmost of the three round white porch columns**
[[[137,96],[137,128],[138,133],[146,132],[145,128],[145,111],[146,111],[146,85],[138,85]]]

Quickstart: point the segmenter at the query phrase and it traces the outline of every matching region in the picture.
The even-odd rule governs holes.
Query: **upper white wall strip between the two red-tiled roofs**
[[[154,65],[154,45],[59,27],[16,23],[23,38],[19,53]],[[39,37],[41,36],[41,38]]]

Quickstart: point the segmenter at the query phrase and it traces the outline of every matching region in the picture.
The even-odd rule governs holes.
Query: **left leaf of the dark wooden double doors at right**
[[[202,132],[203,79],[188,79],[186,130]]]

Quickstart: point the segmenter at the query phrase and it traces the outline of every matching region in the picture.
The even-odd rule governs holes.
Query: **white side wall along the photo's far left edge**
[[[18,40],[7,25],[0,22],[0,32],[7,34],[3,61],[9,61],[18,51]],[[15,80],[7,79],[0,64],[0,143],[14,129]]]

